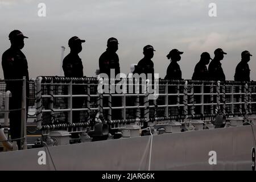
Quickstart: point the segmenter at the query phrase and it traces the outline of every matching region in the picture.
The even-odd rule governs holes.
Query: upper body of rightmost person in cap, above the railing
[[[238,63],[236,67],[236,73],[234,75],[235,81],[250,81],[250,68],[248,62],[251,59],[251,55],[249,51],[243,51],[242,60]]]

